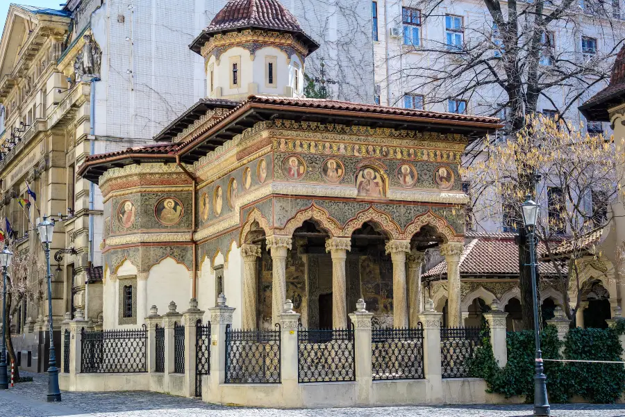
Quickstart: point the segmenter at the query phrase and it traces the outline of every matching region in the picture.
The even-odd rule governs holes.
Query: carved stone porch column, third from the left
[[[332,257],[332,327],[347,329],[347,277],[345,260],[351,250],[351,238],[329,238],[326,252]]]

